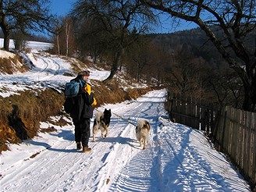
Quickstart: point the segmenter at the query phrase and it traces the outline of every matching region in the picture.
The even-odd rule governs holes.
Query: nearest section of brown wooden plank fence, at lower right
[[[227,154],[256,191],[256,113],[223,107],[217,116],[212,142]]]

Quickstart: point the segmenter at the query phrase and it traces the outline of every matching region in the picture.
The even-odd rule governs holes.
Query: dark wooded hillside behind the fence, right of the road
[[[166,63],[162,77],[170,91],[214,105],[242,108],[244,87],[240,77],[200,28],[149,36],[169,55],[162,58],[162,63]],[[247,48],[254,50],[254,39],[255,32],[247,38]]]

